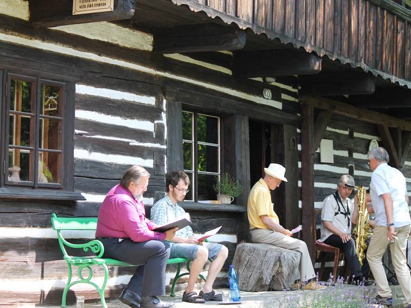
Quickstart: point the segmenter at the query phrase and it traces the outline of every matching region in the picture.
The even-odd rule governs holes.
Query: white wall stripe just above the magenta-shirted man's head
[[[89,152],[84,149],[74,148],[74,158],[86,159],[98,162],[116,163],[123,165],[140,165],[143,167],[153,168],[152,159],[142,159],[139,157],[105,154],[99,152]]]

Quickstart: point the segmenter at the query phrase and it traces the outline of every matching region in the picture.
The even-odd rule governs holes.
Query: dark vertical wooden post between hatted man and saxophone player
[[[303,241],[306,242],[311,260],[314,262],[315,217],[314,217],[314,108],[303,103],[301,106],[303,123],[301,127],[301,201],[303,220]]]

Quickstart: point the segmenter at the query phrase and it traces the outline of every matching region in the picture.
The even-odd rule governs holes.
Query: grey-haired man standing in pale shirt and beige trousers
[[[388,160],[388,153],[382,147],[368,152],[372,170],[370,197],[376,227],[368,247],[367,260],[376,280],[377,300],[381,304],[391,305],[391,289],[381,261],[389,244],[397,279],[405,297],[404,307],[411,307],[411,276],[405,255],[411,230],[409,200],[404,176],[399,170],[388,166]]]

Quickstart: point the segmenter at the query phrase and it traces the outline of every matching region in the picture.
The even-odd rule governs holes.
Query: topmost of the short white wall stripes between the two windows
[[[138,95],[135,93],[122,92],[118,90],[111,90],[106,88],[95,88],[82,84],[76,84],[76,93],[94,95],[102,98],[113,100],[125,100],[129,102],[137,102],[147,105],[155,105],[156,98],[146,95]]]

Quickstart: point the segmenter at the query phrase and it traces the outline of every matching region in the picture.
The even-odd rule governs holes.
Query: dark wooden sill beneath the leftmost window
[[[31,199],[31,200],[86,200],[80,192],[50,190],[50,189],[15,189],[0,188],[0,199]]]

